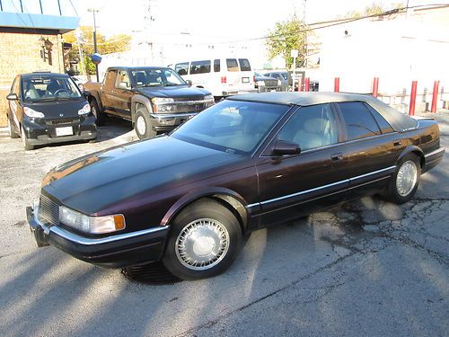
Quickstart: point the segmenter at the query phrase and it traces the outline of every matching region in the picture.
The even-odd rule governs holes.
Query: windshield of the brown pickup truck
[[[180,75],[168,68],[134,69],[131,70],[131,76],[139,87],[186,85]]]

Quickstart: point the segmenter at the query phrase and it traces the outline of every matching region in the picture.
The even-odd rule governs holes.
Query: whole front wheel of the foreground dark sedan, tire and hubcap
[[[207,279],[228,269],[241,248],[242,228],[233,213],[214,200],[198,200],[173,221],[162,262],[180,279]]]

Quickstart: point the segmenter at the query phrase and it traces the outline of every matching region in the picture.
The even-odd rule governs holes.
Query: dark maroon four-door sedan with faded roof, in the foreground
[[[28,221],[38,245],[85,262],[202,279],[251,231],[374,193],[407,202],[444,153],[435,120],[372,96],[235,95],[168,136],[58,165]]]

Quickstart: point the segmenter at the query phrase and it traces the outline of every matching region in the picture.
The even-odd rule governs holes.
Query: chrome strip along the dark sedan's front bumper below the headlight
[[[51,226],[50,227],[50,233],[53,233],[54,235],[60,236],[68,241],[71,241],[75,244],[84,244],[84,245],[92,245],[92,244],[108,244],[119,240],[126,240],[130,239],[132,237],[140,236],[140,235],[147,235],[151,233],[157,233],[162,232],[163,230],[168,230],[167,226],[159,226],[149,229],[144,229],[137,232],[132,233],[126,233],[126,234],[120,234],[120,235],[113,235],[108,237],[101,237],[99,239],[94,239],[90,237],[84,237],[81,235],[75,235],[71,232],[66,231],[66,229],[60,228],[58,226]]]

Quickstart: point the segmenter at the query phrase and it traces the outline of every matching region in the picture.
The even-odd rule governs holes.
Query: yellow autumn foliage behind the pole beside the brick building
[[[79,48],[83,50],[84,54],[84,68],[87,74],[95,74],[95,65],[92,63],[90,55],[93,54],[93,29],[89,26],[81,26],[79,28],[79,40],[76,38],[76,32],[70,31],[63,35],[63,39],[67,43],[72,43],[72,50],[70,50],[70,60],[79,59]],[[129,49],[131,36],[127,34],[119,34],[106,39],[97,30],[97,51],[101,54],[110,54]],[[78,44],[78,42],[80,44]],[[82,60],[80,60],[82,61]]]

